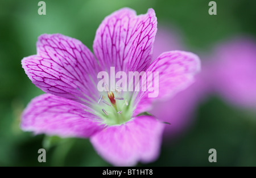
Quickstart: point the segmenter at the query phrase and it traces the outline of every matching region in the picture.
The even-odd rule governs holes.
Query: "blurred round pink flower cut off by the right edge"
[[[237,37],[217,46],[212,57],[215,91],[233,105],[256,107],[256,43]]]

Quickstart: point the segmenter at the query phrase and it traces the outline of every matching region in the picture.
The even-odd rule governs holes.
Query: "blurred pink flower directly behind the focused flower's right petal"
[[[165,49],[184,50],[185,46],[181,42],[181,35],[174,27],[160,26],[154,43],[153,56],[158,56]],[[193,117],[199,103],[207,97],[210,91],[210,67],[203,62],[201,72],[196,75],[195,82],[180,91],[173,98],[156,101],[149,111],[157,118],[169,122],[166,125],[164,137],[166,139],[178,137],[188,126],[193,123]]]

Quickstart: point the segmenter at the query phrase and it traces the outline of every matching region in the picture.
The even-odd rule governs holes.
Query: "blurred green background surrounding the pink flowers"
[[[216,0],[217,15],[208,14],[207,0],[45,0],[46,15],[38,15],[38,2],[0,2],[0,166],[110,166],[88,139],[47,138],[20,130],[24,107],[43,94],[20,61],[36,54],[35,43],[42,33],[62,33],[92,49],[96,29],[106,15],[122,7],[144,14],[152,7],[159,27],[170,34],[175,28],[182,45],[202,54],[201,60],[207,60],[221,41],[256,36],[254,0]],[[237,107],[213,93],[197,103],[189,126],[164,136],[158,160],[138,166],[256,166],[255,108]],[[47,149],[46,163],[38,162],[42,147]],[[212,148],[217,150],[217,163],[208,161]]]

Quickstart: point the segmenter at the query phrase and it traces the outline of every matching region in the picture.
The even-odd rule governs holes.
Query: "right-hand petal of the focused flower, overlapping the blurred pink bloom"
[[[152,80],[144,80],[144,82],[147,82],[147,86],[151,83],[155,87],[155,90],[158,88],[159,91],[152,98],[148,98],[148,96],[149,94],[152,95],[155,91],[150,92],[148,88],[146,92],[141,91],[137,97],[137,102],[140,102],[138,105],[144,103],[144,107],[140,107],[141,111],[137,109],[135,115],[150,107],[152,100],[167,100],[177,92],[187,88],[192,84],[194,76],[199,70],[200,59],[196,54],[179,50],[161,54],[146,70],[146,72],[152,71]],[[158,83],[154,78],[154,72],[158,72],[159,74]]]

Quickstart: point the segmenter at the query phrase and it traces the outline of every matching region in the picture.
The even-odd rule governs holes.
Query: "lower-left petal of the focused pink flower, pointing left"
[[[21,128],[35,134],[89,137],[104,128],[92,110],[76,101],[51,94],[34,98],[24,110]]]

